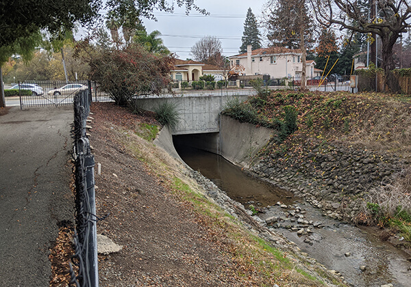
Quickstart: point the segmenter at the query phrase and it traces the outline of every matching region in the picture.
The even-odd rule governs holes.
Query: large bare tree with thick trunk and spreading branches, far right
[[[369,10],[377,12],[368,17],[356,0],[310,0],[316,18],[325,27],[338,25],[359,33],[376,34],[382,42],[382,68],[385,72],[385,86],[390,92],[399,92],[397,78],[393,74],[395,61],[393,47],[402,33],[411,27],[409,0],[369,0]],[[375,39],[372,39],[375,40]]]

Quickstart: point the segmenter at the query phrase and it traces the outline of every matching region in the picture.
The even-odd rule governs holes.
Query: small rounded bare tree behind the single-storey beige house
[[[206,64],[216,65],[221,61],[223,48],[221,41],[214,36],[207,36],[191,47],[192,58]]]

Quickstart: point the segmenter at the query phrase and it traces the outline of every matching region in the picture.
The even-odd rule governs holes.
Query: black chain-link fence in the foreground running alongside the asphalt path
[[[99,219],[95,210],[95,159],[91,154],[90,141],[86,135],[87,118],[90,113],[90,92],[83,90],[74,96],[74,153],[75,160],[75,255],[70,265],[71,286],[99,286],[97,264],[97,230]]]

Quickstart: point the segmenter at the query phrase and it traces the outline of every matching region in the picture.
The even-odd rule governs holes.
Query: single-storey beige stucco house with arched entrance
[[[175,81],[199,81],[203,74],[212,74],[216,81],[224,78],[224,71],[221,68],[192,60],[176,59],[174,68],[170,72],[171,79]]]

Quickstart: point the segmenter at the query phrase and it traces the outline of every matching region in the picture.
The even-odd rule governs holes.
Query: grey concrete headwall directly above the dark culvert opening
[[[247,96],[236,96],[240,101]],[[183,98],[140,98],[138,102],[143,109],[153,111],[163,102],[176,105],[180,120],[171,133],[173,135],[187,135],[194,133],[218,133],[219,113],[233,96],[197,96]]]

